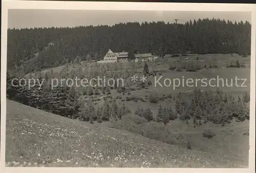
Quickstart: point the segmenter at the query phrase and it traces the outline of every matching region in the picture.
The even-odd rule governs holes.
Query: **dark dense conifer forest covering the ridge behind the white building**
[[[106,51],[250,54],[251,24],[220,19],[185,24],[128,22],[114,26],[8,29],[7,67],[25,73],[75,60],[100,60]]]

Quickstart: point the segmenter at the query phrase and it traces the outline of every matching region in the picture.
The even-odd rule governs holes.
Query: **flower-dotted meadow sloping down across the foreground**
[[[239,167],[207,152],[91,125],[9,100],[6,118],[7,166]]]

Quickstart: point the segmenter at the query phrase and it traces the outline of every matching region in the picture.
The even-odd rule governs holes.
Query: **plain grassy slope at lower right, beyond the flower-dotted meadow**
[[[138,132],[148,126],[152,127],[154,125],[151,122],[146,122],[141,127],[133,127],[132,131]],[[165,140],[172,144],[186,148],[187,141],[190,141],[193,150],[207,152],[222,159],[232,160],[238,165],[248,166],[249,136],[244,135],[244,133],[249,132],[249,121],[247,120],[244,122],[235,122],[233,120],[230,124],[226,124],[225,127],[211,122],[208,125],[203,123],[202,126],[196,128],[193,128],[193,119],[190,119],[189,127],[187,127],[185,121],[172,120],[166,126],[162,125],[162,127],[169,130]],[[117,128],[120,127],[117,126]],[[212,139],[203,137],[202,132],[204,129],[210,129],[216,133],[216,136]],[[182,133],[183,139],[176,139],[179,133]],[[154,128],[152,128],[151,135],[157,134],[158,132],[155,132]]]

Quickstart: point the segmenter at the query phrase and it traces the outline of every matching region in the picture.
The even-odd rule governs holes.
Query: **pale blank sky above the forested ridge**
[[[190,19],[220,18],[251,22],[250,12],[210,11],[114,11],[114,10],[8,10],[8,28],[43,28],[109,25],[120,22],[164,21],[184,23]]]

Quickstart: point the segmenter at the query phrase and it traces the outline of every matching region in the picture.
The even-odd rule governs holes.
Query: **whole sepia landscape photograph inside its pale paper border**
[[[7,16],[6,167],[249,167],[250,11]]]

